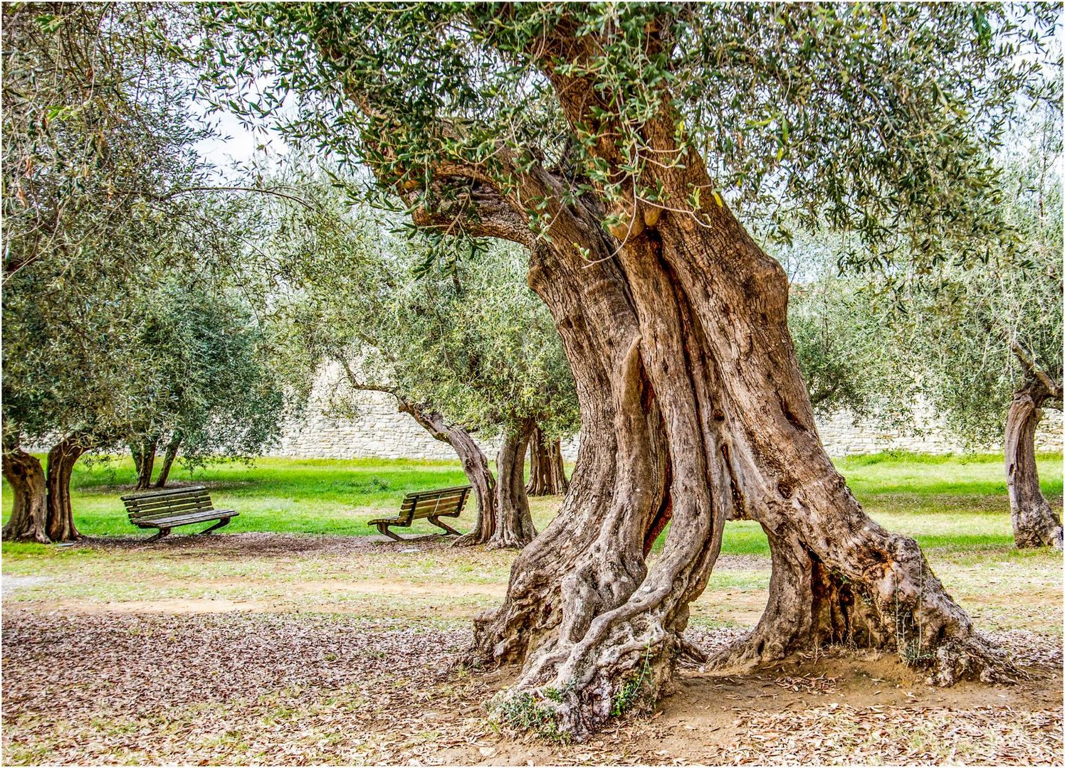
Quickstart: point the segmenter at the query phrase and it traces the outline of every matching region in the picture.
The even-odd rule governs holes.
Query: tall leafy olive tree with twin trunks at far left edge
[[[158,47],[163,21],[135,4],[3,6],[9,536],[77,536],[73,464],[128,423],[114,385],[136,366],[122,360],[129,325],[115,307],[145,279],[141,265],[158,263],[169,222],[195,207],[182,193],[202,182],[192,146],[204,134],[185,119],[187,80]],[[54,444],[44,501],[45,470],[20,448],[26,437]]]

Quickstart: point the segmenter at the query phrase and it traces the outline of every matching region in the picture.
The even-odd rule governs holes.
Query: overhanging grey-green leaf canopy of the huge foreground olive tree
[[[690,151],[717,186],[670,206],[727,199],[785,241],[792,224],[853,233],[852,267],[937,265],[1012,241],[987,149],[1018,93],[1054,98],[1039,72],[1056,17],[1038,3],[223,3],[190,57],[218,103],[410,189],[409,207],[450,222],[430,236],[477,216],[476,182],[436,169],[475,167],[507,193],[515,168],[542,165],[573,199],[666,204],[642,170]],[[601,47],[537,64],[555,31]],[[618,98],[571,129],[544,67]],[[675,156],[641,133],[663,110]],[[608,168],[599,145],[627,161]],[[525,204],[543,232],[544,201]]]

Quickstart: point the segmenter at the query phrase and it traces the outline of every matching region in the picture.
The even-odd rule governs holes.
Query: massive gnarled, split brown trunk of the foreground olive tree
[[[522,665],[496,711],[580,739],[654,702],[679,654],[702,655],[684,638],[688,604],[705,588],[724,521],[741,517],[769,535],[772,589],[758,628],[725,661],[853,640],[897,649],[939,684],[1011,674],[917,544],[870,519],[833,467],[788,334],[784,270],[710,194],[704,161],[678,140],[671,96],[662,88],[634,129],[634,147],[655,161],[632,180],[634,157],[611,138],[624,130],[609,117],[627,95],[594,80],[595,35],[564,15],[552,23],[525,53],[574,136],[599,137],[587,150],[622,199],[575,198],[572,179],[504,146],[492,162],[506,184],[461,157],[433,174],[465,185],[475,234],[530,248],[529,285],[555,319],[581,406],[562,508],[515,560],[504,603],[475,621],[468,661]],[[638,188],[655,202],[633,197]],[[547,237],[530,235],[528,201]],[[619,219],[607,234],[604,222]],[[454,220],[415,212],[417,223]],[[649,557],[667,521],[662,551]]]

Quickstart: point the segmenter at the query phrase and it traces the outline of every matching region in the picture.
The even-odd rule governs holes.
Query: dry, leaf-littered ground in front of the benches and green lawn
[[[511,671],[452,667],[511,553],[279,534],[75,549],[32,574],[4,566],[5,765],[1062,763],[1052,558],[933,560],[1014,652],[1016,685],[933,688],[854,649],[730,677],[689,667],[652,712],[566,745],[490,720]],[[722,556],[690,637],[741,634],[768,572]]]

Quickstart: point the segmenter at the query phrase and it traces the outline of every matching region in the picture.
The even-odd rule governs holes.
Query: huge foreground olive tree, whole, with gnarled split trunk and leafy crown
[[[773,202],[779,220],[850,231],[855,257],[876,260],[900,237],[935,263],[998,236],[979,149],[1039,66],[1016,55],[1050,28],[1051,10],[1035,13],[1021,27],[967,4],[211,14],[216,84],[253,94],[275,79],[249,113],[288,91],[284,128],[367,166],[429,236],[530,252],[583,439],[558,517],[475,622],[471,662],[521,665],[498,712],[581,738],[619,702],[654,700],[681,654],[702,655],[684,637],[688,604],[740,517],[769,538],[770,599],[715,663],[850,641],[940,684],[1010,674],[917,544],[870,519],[829,461],[784,270],[734,212]]]

